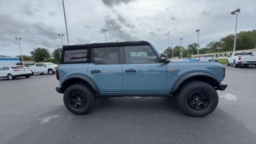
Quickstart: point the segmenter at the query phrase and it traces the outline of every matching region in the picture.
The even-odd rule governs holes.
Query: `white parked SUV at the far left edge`
[[[29,78],[32,72],[28,66],[2,66],[0,67],[0,78],[13,80],[16,77],[25,76]]]

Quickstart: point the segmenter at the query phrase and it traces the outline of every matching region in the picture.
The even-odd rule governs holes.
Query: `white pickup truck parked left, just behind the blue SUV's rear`
[[[34,73],[49,73],[54,74],[55,69],[58,68],[58,65],[51,63],[51,62],[44,62],[44,63],[36,63],[34,66],[28,66],[31,71],[32,75]]]

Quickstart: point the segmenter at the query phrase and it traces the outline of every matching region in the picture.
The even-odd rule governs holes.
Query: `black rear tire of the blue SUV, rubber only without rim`
[[[86,99],[86,104],[83,108],[76,109],[70,104],[69,98],[73,92],[80,92],[84,95]],[[92,108],[96,104],[96,94],[94,90],[92,90],[92,88],[86,84],[83,84],[83,83],[73,84],[66,89],[63,96],[63,101],[66,108],[73,114],[78,114],[78,115],[87,114],[92,110]]]

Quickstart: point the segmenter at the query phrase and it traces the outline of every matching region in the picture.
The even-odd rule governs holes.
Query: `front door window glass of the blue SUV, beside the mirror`
[[[156,63],[156,54],[150,46],[126,46],[124,47],[127,64]]]

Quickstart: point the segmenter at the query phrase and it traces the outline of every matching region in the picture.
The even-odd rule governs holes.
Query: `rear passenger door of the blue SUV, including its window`
[[[96,83],[100,93],[121,93],[122,65],[119,62],[119,48],[93,48],[92,53],[88,77]]]

